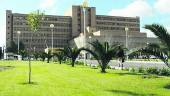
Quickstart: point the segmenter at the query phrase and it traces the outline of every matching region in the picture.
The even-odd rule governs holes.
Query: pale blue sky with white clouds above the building
[[[6,10],[13,13],[45,11],[48,15],[69,15],[72,5],[83,0],[0,0],[0,46],[5,45]],[[97,15],[140,17],[141,32],[154,37],[144,29],[145,24],[158,23],[170,31],[170,0],[89,0],[90,7],[96,7]]]

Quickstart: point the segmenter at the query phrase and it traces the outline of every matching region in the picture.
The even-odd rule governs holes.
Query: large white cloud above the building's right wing
[[[153,8],[146,0],[134,0],[131,4],[123,9],[113,9],[109,15],[113,16],[151,16]]]

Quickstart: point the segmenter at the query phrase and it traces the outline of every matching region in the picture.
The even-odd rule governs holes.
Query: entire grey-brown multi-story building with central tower
[[[80,34],[84,33],[84,26],[85,28],[93,28],[94,32],[100,30],[100,36],[92,36],[92,40],[109,40],[110,43],[121,43],[124,45],[126,42],[125,27],[128,27],[129,47],[142,47],[147,43],[146,33],[140,33],[139,17],[96,15],[95,7],[88,7],[84,12],[81,6],[73,6],[72,16],[45,15],[36,33],[31,33],[30,27],[26,22],[26,16],[27,14],[12,13],[11,10],[6,11],[7,46],[10,41],[17,43],[17,31],[20,31],[20,41],[27,48],[29,47],[29,41],[32,39],[32,48],[43,50],[51,47],[51,33],[54,31],[54,47],[61,48],[68,45],[69,41],[71,41],[71,44],[74,44],[74,38],[80,37]],[[54,24],[54,29],[50,28],[50,24]],[[90,39],[88,40],[89,34],[87,30],[86,33],[87,41],[90,41]]]

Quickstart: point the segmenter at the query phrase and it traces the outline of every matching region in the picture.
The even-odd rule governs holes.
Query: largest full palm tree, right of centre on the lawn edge
[[[98,40],[90,43],[93,46],[93,50],[85,48],[84,50],[91,53],[98,61],[101,72],[106,73],[106,68],[110,60],[116,56],[116,47],[109,46],[108,42],[100,43]]]

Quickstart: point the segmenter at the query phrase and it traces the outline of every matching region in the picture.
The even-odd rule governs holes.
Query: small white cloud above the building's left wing
[[[40,8],[48,9],[54,7],[56,4],[55,0],[42,0],[40,3]]]

